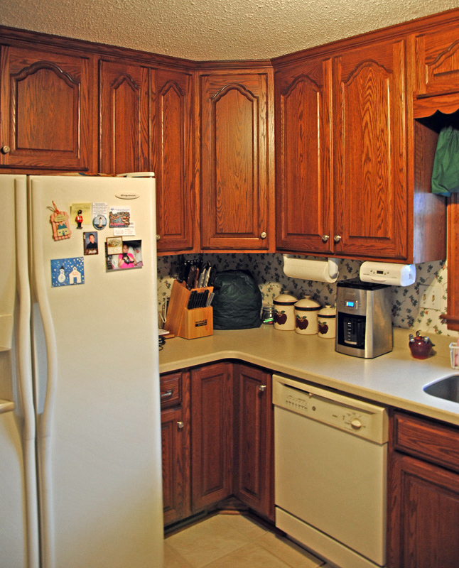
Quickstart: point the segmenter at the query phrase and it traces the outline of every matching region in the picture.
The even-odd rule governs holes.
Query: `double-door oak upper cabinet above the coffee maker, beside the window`
[[[408,263],[445,258],[444,199],[430,194],[426,176],[414,180],[406,40],[292,56],[275,82],[277,248]]]

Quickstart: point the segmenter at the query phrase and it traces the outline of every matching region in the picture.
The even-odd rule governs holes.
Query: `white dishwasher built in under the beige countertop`
[[[340,568],[386,563],[387,411],[273,376],[276,526]]]

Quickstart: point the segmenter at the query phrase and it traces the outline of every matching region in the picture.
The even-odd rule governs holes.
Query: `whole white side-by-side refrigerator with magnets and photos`
[[[0,175],[0,566],[161,568],[152,178]]]

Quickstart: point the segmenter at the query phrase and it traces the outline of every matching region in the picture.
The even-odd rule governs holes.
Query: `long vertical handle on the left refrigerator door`
[[[33,377],[31,356],[31,292],[28,276],[28,219],[26,177],[15,180],[16,223],[16,292],[17,317],[17,388],[23,416],[24,485],[26,489],[26,523],[28,568],[38,568],[38,497],[36,485],[36,421],[33,404]]]

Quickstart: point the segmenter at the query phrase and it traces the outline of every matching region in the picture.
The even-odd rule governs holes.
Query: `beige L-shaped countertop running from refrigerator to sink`
[[[422,332],[421,332],[422,334]],[[394,349],[375,359],[337,353],[334,339],[277,331],[272,326],[217,331],[200,339],[166,340],[159,354],[161,373],[239,359],[368,400],[411,410],[459,425],[459,404],[423,392],[423,386],[454,374],[449,344],[454,337],[431,336],[433,356],[414,359],[408,329],[394,328]]]

